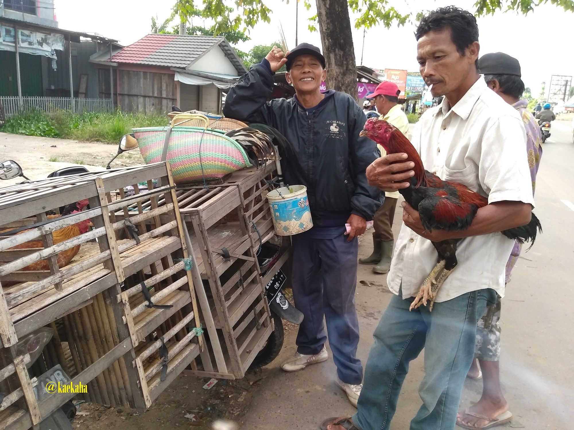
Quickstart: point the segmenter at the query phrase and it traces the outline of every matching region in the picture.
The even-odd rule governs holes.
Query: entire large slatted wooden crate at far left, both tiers
[[[130,185],[133,195],[126,196]],[[46,210],[84,198],[89,209],[46,220]],[[88,218],[93,230],[53,244],[53,232]],[[197,357],[203,340],[195,330],[200,320],[169,163],[0,189],[0,220],[0,358],[8,366],[17,360],[8,347],[18,338],[57,323],[57,359],[72,382],[88,384],[91,401],[145,409]],[[26,231],[6,232],[20,226]],[[88,243],[94,239],[97,244]],[[42,247],[11,249],[30,240]],[[49,261],[47,273],[20,271],[77,245],[96,249],[63,268]],[[6,280],[19,283],[3,287]],[[168,354],[158,360],[162,345]],[[39,416],[72,396],[38,402]],[[35,424],[34,413],[18,414],[10,427],[0,420],[0,429]]]

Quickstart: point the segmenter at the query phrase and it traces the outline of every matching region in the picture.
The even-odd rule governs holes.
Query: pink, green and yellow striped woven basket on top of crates
[[[168,127],[132,130],[146,164],[161,161],[167,130]],[[222,178],[251,166],[247,154],[235,140],[200,127],[173,127],[166,160],[171,164],[175,182]]]

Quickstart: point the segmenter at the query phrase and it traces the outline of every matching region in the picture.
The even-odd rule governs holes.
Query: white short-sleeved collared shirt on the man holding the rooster
[[[452,108],[445,98],[426,111],[413,131],[413,145],[426,170],[463,183],[488,203],[521,201],[534,206],[526,157],[526,133],[517,111],[491,91],[482,76]],[[514,241],[501,233],[467,237],[456,251],[458,265],[437,293],[445,302],[492,288],[504,295],[505,264]],[[403,223],[387,283],[394,294],[415,296],[437,263],[437,252]]]

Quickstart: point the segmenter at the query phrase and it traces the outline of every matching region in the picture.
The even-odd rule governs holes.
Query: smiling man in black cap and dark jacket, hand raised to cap
[[[267,101],[273,75],[286,65],[290,99]],[[356,358],[359,323],[355,311],[358,239],[381,206],[381,192],[367,183],[365,170],[380,154],[375,143],[359,137],[366,116],[346,93],[321,92],[327,77],[319,48],[300,44],[284,54],[273,46],[227,94],[225,116],[277,128],[293,146],[281,151],[289,185],[305,185],[313,227],[293,236],[293,298],[304,314],[297,353],[281,368],[296,372],[328,359],[323,327],[337,366],[336,384],[356,406],[363,366]],[[350,224],[346,235],[345,224]]]

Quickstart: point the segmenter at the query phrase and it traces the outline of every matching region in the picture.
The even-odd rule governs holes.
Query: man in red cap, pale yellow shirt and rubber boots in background
[[[397,85],[390,81],[383,81],[375,89],[373,94],[366,98],[375,101],[377,112],[381,114],[380,119],[393,124],[401,130],[406,136],[409,131],[409,120],[405,112],[402,111],[401,105],[398,104],[398,95],[401,90]],[[381,156],[385,157],[386,152],[381,145],[377,145]],[[393,256],[393,218],[395,208],[397,207],[398,191],[385,193],[385,201],[381,209],[375,213],[373,233],[373,253],[369,257],[359,259],[360,264],[376,264],[373,267],[375,273],[387,273],[391,266],[391,257]]]

